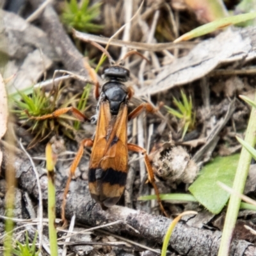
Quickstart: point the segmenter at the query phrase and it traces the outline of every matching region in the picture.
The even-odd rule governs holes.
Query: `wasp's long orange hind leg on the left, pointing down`
[[[93,146],[93,140],[91,139],[84,139],[81,141],[79,149],[77,151],[76,157],[73,160],[73,163],[70,166],[70,173],[68,176],[68,180],[67,180],[67,184],[65,187],[65,191],[64,191],[64,195],[63,195],[63,202],[61,205],[61,220],[63,221],[63,227],[65,227],[67,225],[67,220],[65,218],[65,207],[66,207],[66,203],[67,203],[67,194],[68,194],[68,190],[69,190],[69,185],[71,182],[72,177],[74,176],[74,173],[76,171],[76,168],[83,156],[83,152],[84,152],[84,147],[92,147]]]

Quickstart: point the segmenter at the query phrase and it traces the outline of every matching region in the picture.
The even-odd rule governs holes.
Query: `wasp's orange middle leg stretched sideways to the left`
[[[43,116],[29,116],[30,119],[34,120],[45,120],[48,118],[56,118],[58,116],[61,116],[67,112],[71,112],[79,121],[88,121],[90,120],[88,117],[86,117],[81,111],[74,107],[68,107],[68,108],[60,108],[56,111],[52,112],[51,114],[43,115]]]

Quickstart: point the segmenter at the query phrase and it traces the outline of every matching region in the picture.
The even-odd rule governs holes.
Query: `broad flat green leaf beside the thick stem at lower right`
[[[189,191],[196,200],[214,214],[220,213],[230,196],[216,182],[221,181],[232,187],[238,160],[239,154],[216,157],[202,168],[198,179],[189,187]]]

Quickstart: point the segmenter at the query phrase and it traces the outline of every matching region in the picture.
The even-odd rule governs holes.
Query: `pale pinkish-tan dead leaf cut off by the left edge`
[[[8,104],[7,104],[7,94],[5,90],[5,84],[2,75],[0,74],[0,141],[3,138],[8,119]],[[3,154],[0,151],[0,166],[2,163]]]

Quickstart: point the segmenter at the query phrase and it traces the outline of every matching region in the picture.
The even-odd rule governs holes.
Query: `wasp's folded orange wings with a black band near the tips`
[[[124,192],[127,158],[127,105],[111,116],[109,103],[102,102],[89,166],[90,193],[102,208],[115,205]]]

